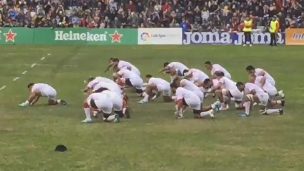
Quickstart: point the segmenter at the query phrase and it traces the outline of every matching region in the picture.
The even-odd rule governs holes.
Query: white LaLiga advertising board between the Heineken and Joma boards
[[[181,28],[138,28],[138,45],[181,45]]]

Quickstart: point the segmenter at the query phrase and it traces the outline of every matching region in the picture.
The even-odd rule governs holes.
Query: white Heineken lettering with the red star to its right
[[[108,32],[104,32],[102,34],[98,33],[90,33],[90,32],[65,32],[65,31],[55,31],[55,40],[57,41],[108,41],[108,39],[112,39],[111,42],[121,42],[121,37],[123,34],[119,34],[117,30],[114,31],[113,34],[108,34]]]

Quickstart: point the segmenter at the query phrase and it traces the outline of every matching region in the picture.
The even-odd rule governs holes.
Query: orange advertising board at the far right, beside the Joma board
[[[286,45],[304,45],[304,29],[286,29]]]

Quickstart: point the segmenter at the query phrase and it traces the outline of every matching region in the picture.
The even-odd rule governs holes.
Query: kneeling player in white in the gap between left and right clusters
[[[154,100],[155,98],[159,97],[161,93],[163,93],[164,102],[172,101],[171,95],[171,88],[170,83],[161,78],[154,78],[152,75],[146,75],[147,82],[146,90],[143,93],[144,98],[138,103],[148,103],[150,100]]]

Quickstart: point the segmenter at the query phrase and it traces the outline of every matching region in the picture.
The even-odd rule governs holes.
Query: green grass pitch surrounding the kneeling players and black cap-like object
[[[301,171],[304,168],[303,47],[268,46],[0,46],[0,171]],[[51,53],[50,56],[47,54]],[[45,56],[46,59],[40,60]],[[90,75],[104,73],[107,60],[119,57],[137,66],[142,77],[166,61],[205,71],[210,60],[223,65],[233,80],[246,81],[245,67],[267,70],[286,93],[285,115],[249,118],[239,111],[216,120],[176,120],[174,104],[159,98],[137,104],[119,124],[82,124],[81,89]],[[30,65],[37,63],[33,68]],[[21,74],[27,71],[25,75]],[[20,79],[12,80],[19,76]],[[29,82],[49,83],[67,106],[17,105],[28,96]],[[213,98],[205,100],[210,104]],[[231,105],[231,108],[233,105]],[[58,144],[65,153],[54,152]]]

